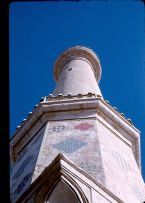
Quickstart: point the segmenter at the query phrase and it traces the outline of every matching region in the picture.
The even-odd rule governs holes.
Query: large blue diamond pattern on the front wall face
[[[84,147],[85,145],[87,145],[86,142],[82,142],[74,138],[68,138],[64,141],[59,142],[58,144],[54,144],[53,147],[65,153],[72,153],[75,152],[77,149]]]

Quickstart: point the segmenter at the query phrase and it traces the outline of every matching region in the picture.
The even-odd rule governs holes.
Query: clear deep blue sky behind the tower
[[[145,179],[144,5],[140,1],[16,2],[10,6],[10,134],[52,93],[53,64],[65,49],[92,48],[100,88],[141,131]]]

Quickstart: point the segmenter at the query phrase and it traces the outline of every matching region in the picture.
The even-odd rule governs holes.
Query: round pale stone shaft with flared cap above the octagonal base
[[[66,50],[56,60],[54,76],[57,86],[55,96],[94,93],[102,96],[98,82],[101,65],[96,54],[86,47],[76,46]]]

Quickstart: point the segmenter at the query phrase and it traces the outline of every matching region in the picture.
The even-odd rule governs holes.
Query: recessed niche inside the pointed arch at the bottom
[[[80,203],[76,193],[64,181],[59,181],[46,203]]]

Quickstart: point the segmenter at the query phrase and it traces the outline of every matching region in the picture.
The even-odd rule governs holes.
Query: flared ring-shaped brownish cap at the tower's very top
[[[89,62],[93,68],[97,82],[100,81],[102,69],[98,56],[90,48],[84,46],[74,46],[64,51],[55,62],[54,78],[57,82],[62,68],[73,59],[82,59]]]

